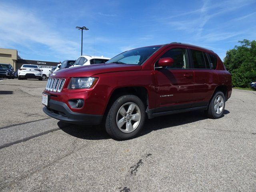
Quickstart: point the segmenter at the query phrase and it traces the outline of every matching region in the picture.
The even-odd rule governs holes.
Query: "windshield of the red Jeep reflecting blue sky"
[[[160,46],[142,47],[142,48],[133,49],[113,57],[106,63],[141,65],[144,63],[144,61],[146,61],[147,58],[149,58],[159,48]]]

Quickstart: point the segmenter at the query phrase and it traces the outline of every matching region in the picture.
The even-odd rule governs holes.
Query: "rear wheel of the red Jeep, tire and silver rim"
[[[211,119],[218,119],[222,116],[225,110],[225,96],[223,92],[215,92],[212,100],[206,110],[206,115]]]

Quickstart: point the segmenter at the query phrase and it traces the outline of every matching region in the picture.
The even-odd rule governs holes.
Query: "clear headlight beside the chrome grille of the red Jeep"
[[[98,78],[97,77],[72,77],[68,89],[86,89],[93,87]]]

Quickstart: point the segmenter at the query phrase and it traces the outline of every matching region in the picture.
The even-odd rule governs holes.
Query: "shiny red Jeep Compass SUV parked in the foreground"
[[[192,110],[220,118],[231,92],[231,75],[216,53],[174,42],[53,73],[42,103],[53,118],[103,123],[112,138],[125,140],[142,130],[146,118]]]

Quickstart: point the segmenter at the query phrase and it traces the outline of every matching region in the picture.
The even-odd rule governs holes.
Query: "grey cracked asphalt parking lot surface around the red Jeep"
[[[116,141],[42,112],[46,81],[0,79],[0,191],[256,191],[256,92],[233,90],[224,116],[147,120]]]

